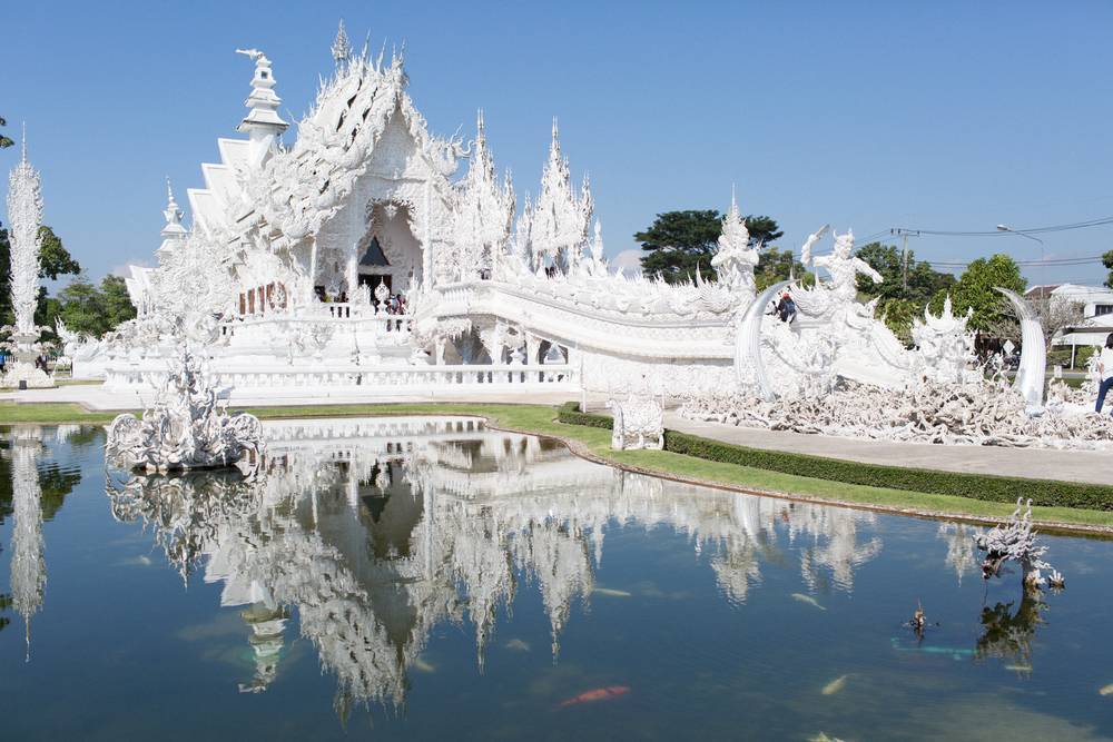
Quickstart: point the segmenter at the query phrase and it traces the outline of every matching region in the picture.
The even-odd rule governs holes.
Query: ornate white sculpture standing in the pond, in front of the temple
[[[175,360],[155,406],[141,419],[119,415],[108,428],[106,445],[110,461],[148,472],[233,466],[244,452],[262,449],[258,418],[229,415],[188,348]]]

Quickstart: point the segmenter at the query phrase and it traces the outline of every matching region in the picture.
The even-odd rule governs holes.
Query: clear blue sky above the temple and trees
[[[830,222],[984,230],[1113,215],[1113,3],[8,2],[0,116],[42,170],[46,221],[97,278],[150,264],[164,177],[184,202],[238,136],[256,47],[299,118],[343,18],[355,46],[406,42],[410,92],[442,135],[486,113],[500,169],[536,191],[552,116],[590,172],[608,254],[659,211],[729,205],[785,230]],[[287,135],[288,136],[288,135]],[[0,151],[0,170],[18,148]],[[2,207],[0,207],[2,208]],[[1047,259],[1113,249],[1113,226],[1045,236]],[[967,261],[1015,236],[919,237]],[[1101,283],[1099,263],[1027,266]]]

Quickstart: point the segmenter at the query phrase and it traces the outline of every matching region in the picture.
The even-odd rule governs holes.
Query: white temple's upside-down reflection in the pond
[[[611,525],[671,527],[707,556],[720,590],[745,601],[780,543],[801,546],[809,588],[850,591],[881,542],[873,514],[738,495],[613,469],[473,418],[268,423],[247,478],[109,474],[114,515],[154,526],[188,576],[223,583],[243,606],[256,675],[274,679],[296,611],[336,675],[338,708],[401,704],[406,672],[444,622],[470,623],[482,670],[496,615],[536,585],[554,659],[585,604]],[[805,541],[806,540],[806,541]]]

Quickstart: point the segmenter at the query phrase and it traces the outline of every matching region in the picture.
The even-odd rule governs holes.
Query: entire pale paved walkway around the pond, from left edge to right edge
[[[38,403],[71,402],[92,410],[136,409],[150,402],[134,392],[108,392],[99,385],[60,386],[53,389],[28,389],[0,394],[0,402]],[[408,394],[383,396],[372,394],[329,393],[319,389],[313,397],[259,397],[233,394],[233,403],[250,407],[346,405],[368,403],[509,403],[558,405],[580,400],[580,395],[568,393],[471,393],[471,394]],[[588,409],[607,413],[605,396],[589,395]],[[786,431],[765,431],[719,423],[700,423],[684,419],[674,413],[666,415],[667,427],[726,443],[754,448],[787,451],[828,458],[857,461],[868,464],[909,466],[913,468],[1001,474],[1033,479],[1063,479],[1113,485],[1113,453],[1093,451],[1052,451],[1046,448],[1002,448],[997,446],[937,446],[920,443],[888,443],[807,435]],[[1024,493],[1017,493],[1022,495]]]

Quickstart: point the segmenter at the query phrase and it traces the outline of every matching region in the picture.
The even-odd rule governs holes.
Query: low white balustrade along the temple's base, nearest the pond
[[[577,379],[568,364],[499,366],[400,366],[358,368],[327,365],[269,368],[216,368],[208,372],[214,384],[234,392],[266,390],[326,396],[322,389],[347,393],[404,394],[413,392],[499,392],[530,388],[574,389]],[[115,389],[157,388],[167,378],[165,368],[139,364],[105,369],[105,385]]]

